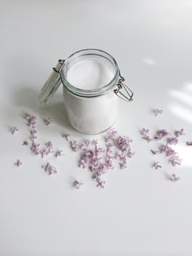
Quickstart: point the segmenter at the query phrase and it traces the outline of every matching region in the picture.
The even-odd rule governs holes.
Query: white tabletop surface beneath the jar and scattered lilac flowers
[[[1,1],[0,10],[0,255],[192,255],[192,148],[184,143],[192,139],[191,1]],[[107,176],[105,189],[61,140],[65,131],[83,137],[64,118],[61,90],[47,107],[37,103],[51,67],[82,48],[115,56],[135,94],[120,103],[115,128],[133,138],[137,154],[127,170]],[[155,118],[152,108],[164,115]],[[58,175],[47,176],[47,159],[21,146],[23,111],[53,118],[52,127],[39,121],[39,131],[66,152],[48,158]],[[15,125],[20,132],[12,136],[7,129]],[[142,127],[184,128],[183,165],[151,168]],[[174,171],[177,183],[164,175]],[[71,187],[74,178],[84,181],[81,190]]]

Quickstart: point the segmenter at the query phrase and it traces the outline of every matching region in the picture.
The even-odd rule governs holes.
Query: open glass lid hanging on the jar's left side
[[[53,72],[47,79],[39,94],[39,102],[41,104],[47,103],[47,101],[53,97],[55,92],[58,90],[58,87],[61,85],[60,70],[62,69],[63,65],[64,59],[59,59],[56,67],[53,67]]]

